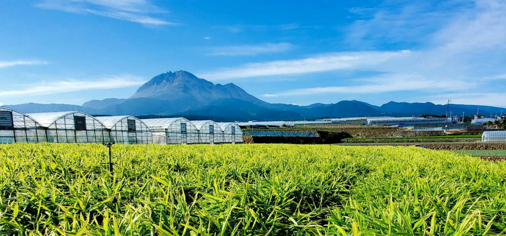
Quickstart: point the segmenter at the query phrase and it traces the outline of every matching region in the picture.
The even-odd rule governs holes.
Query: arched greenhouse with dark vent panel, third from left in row
[[[111,142],[122,144],[152,143],[151,130],[131,115],[95,116],[109,130]]]

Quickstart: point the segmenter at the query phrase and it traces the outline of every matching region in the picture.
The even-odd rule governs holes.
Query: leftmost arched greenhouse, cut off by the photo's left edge
[[[46,142],[46,130],[27,114],[0,106],[0,143]]]

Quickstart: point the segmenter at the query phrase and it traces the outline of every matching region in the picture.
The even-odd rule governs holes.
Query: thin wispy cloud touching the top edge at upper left
[[[147,0],[41,0],[35,6],[76,14],[95,14],[145,25],[177,25],[155,14],[166,13]]]

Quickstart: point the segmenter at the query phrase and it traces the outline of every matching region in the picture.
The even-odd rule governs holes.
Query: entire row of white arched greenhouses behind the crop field
[[[235,123],[183,117],[140,120],[131,115],[93,116],[81,111],[22,113],[0,106],[0,143],[192,144],[242,143]]]

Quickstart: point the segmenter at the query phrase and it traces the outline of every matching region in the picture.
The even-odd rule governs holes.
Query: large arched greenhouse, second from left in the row
[[[109,142],[107,128],[92,115],[80,111],[27,114],[46,128],[48,142]]]

